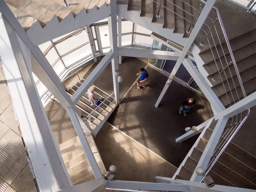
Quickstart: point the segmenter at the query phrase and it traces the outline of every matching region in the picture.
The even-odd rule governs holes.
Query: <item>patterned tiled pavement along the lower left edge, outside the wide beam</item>
[[[0,73],[0,192],[36,192],[2,73]]]

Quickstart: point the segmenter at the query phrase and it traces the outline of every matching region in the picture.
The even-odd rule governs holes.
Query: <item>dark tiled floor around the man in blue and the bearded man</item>
[[[185,133],[185,127],[200,125],[212,117],[212,110],[207,99],[175,82],[169,87],[159,108],[155,108],[167,77],[151,67],[147,70],[150,77],[146,88],[132,88],[108,122],[179,166],[196,137],[179,144],[175,143],[175,139]],[[197,103],[184,117],[178,113],[178,108],[188,97],[194,97]]]

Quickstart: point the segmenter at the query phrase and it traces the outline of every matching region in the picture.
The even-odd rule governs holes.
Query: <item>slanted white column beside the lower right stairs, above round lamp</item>
[[[206,170],[207,165],[209,164],[209,161],[211,160],[212,154],[215,151],[215,148],[218,144],[218,141],[221,137],[221,134],[227,124],[227,120],[229,118],[223,117],[218,120],[217,125],[215,126],[212,135],[204,149],[204,152],[198,161],[197,167],[203,167],[204,170]],[[196,170],[196,169],[195,169]],[[197,181],[200,182],[202,179],[202,176],[196,175],[196,172],[193,172],[193,175],[191,177],[191,181]]]

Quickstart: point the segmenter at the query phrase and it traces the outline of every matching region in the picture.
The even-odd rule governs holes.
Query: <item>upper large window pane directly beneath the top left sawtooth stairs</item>
[[[66,39],[65,41],[61,42],[60,44],[56,45],[56,48],[60,55],[63,55],[76,47],[88,42],[88,35],[87,32],[84,30],[73,37]]]

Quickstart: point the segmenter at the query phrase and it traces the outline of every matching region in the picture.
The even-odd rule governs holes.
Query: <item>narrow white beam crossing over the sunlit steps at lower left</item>
[[[77,118],[76,113],[72,108],[67,108],[67,112],[68,112],[68,114],[70,116],[70,119],[73,123],[73,126],[76,130],[76,134],[79,137],[79,140],[82,144],[82,147],[84,149],[84,153],[87,157],[87,160],[90,163],[91,169],[93,170],[93,174],[94,174],[96,179],[99,179],[99,178],[102,177],[102,174],[100,172],[100,169],[99,169],[99,166],[96,162],[96,159],[93,155],[93,151],[91,150],[90,145],[89,145],[89,143],[88,143],[88,141],[87,141],[87,139],[84,135],[84,132],[81,128],[79,119]]]

